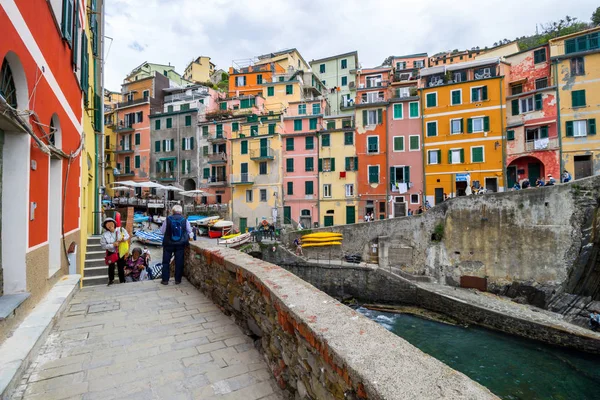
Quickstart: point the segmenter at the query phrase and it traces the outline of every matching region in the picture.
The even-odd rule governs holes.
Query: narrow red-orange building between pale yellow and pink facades
[[[387,175],[387,109],[392,68],[365,68],[358,72],[356,92],[356,155],[359,215],[386,218],[389,177]],[[321,143],[323,145],[323,143]]]

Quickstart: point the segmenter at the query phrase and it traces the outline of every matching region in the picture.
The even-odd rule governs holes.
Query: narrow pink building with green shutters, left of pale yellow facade
[[[304,228],[319,221],[317,130],[323,129],[325,102],[290,102],[283,118],[283,217]]]

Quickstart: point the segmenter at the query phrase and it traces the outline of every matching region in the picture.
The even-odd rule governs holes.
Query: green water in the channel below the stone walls
[[[503,399],[600,399],[600,356],[476,326],[359,312]]]

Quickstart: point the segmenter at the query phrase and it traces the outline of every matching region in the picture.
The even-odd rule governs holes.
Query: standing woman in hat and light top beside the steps
[[[106,250],[104,262],[108,265],[108,286],[112,285],[115,280],[115,265],[119,274],[119,282],[125,283],[125,256],[129,253],[129,246],[124,254],[120,254],[122,252],[119,251],[119,245],[128,243],[129,234],[124,228],[117,227],[117,222],[112,218],[106,218],[102,222],[102,227],[104,233],[100,238],[100,245]]]

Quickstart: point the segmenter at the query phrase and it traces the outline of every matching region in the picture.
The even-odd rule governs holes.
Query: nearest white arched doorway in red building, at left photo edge
[[[9,52],[0,65],[0,93],[6,99],[9,112],[0,112],[0,229],[3,293],[23,292],[27,289],[27,228],[35,204],[28,196],[30,136],[17,122],[10,108],[27,110],[29,98],[27,80],[19,57]],[[3,107],[6,108],[6,107]]]

